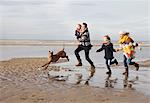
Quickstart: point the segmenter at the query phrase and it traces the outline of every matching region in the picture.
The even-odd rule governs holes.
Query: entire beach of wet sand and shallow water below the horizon
[[[44,41],[46,42],[46,41]],[[61,43],[64,41],[61,41]],[[12,43],[12,42],[11,42]],[[95,63],[92,70],[85,61],[82,67],[75,67],[76,58],[73,45],[40,44],[32,42],[18,45],[0,45],[0,103],[149,103],[150,102],[150,55],[149,46],[137,50],[139,71],[130,67],[129,77],[122,75],[124,67],[122,52],[115,53],[118,66],[111,66],[112,75],[106,75],[106,66],[99,48],[90,51]],[[19,42],[20,43],[20,42]],[[56,41],[55,41],[56,43]],[[70,43],[70,42],[69,42]],[[30,45],[31,44],[31,45]],[[60,59],[41,67],[47,62],[48,50],[57,53],[65,48],[70,61]],[[115,48],[118,46],[116,45]]]

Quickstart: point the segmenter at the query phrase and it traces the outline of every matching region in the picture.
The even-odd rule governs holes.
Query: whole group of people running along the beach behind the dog
[[[106,74],[111,74],[112,71],[110,69],[110,65],[116,64],[118,65],[117,59],[114,57],[113,52],[117,51],[123,51],[123,63],[125,72],[124,75],[129,74],[129,65],[134,65],[136,67],[136,70],[139,70],[139,64],[136,62],[133,62],[132,60],[135,58],[135,47],[138,46],[137,43],[134,42],[134,40],[129,36],[129,32],[120,31],[120,39],[118,41],[120,47],[118,49],[114,49],[113,43],[111,42],[111,38],[109,35],[105,35],[103,37],[103,43],[102,46],[96,51],[101,52],[104,50],[105,56],[105,64],[108,69],[108,72]],[[91,68],[95,68],[94,63],[89,57],[89,51],[92,48],[91,42],[90,42],[90,34],[88,30],[88,26],[86,23],[78,24],[75,30],[75,36],[77,38],[77,41],[79,42],[79,45],[77,49],[75,50],[75,55],[78,60],[78,64],[76,66],[82,66],[82,60],[80,58],[79,52],[84,50],[86,60],[90,63]]]

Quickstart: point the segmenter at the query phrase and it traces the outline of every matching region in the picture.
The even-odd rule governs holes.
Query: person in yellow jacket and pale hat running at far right
[[[123,75],[127,74],[128,75],[128,65],[134,65],[136,67],[136,70],[139,70],[139,64],[132,62],[132,59],[135,58],[135,47],[138,46],[137,43],[134,43],[133,39],[129,37],[129,32],[119,32],[120,34],[120,39],[119,39],[119,44],[120,47],[117,49],[123,50],[123,57],[124,57],[124,67],[125,67],[125,72]]]

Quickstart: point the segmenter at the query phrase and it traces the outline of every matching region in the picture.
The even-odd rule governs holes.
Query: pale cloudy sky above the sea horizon
[[[150,40],[150,0],[0,0],[0,39],[75,40],[86,22],[92,40],[128,31]]]

